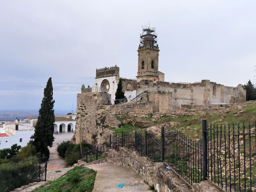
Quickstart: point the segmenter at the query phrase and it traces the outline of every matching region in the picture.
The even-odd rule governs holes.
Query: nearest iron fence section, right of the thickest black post
[[[255,126],[256,122],[252,132],[250,122],[247,126],[207,124],[207,177],[220,188],[231,192],[256,187]]]

